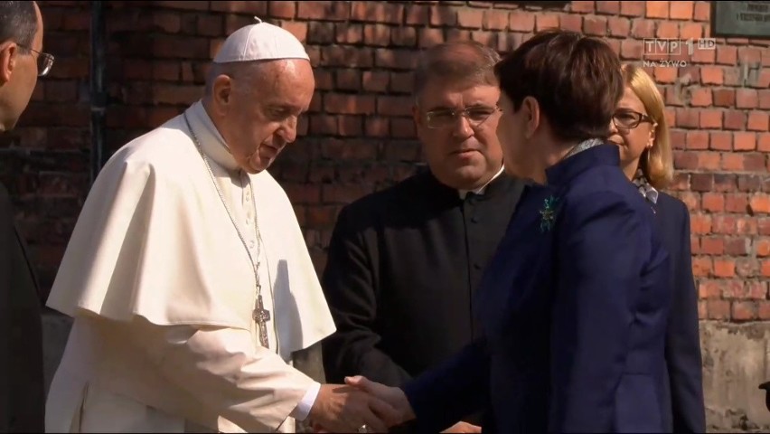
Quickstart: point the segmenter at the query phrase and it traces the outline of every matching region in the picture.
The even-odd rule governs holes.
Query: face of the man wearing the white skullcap
[[[239,166],[256,174],[296,139],[297,118],[313,99],[313,70],[305,60],[274,61],[233,80],[221,133]]]

